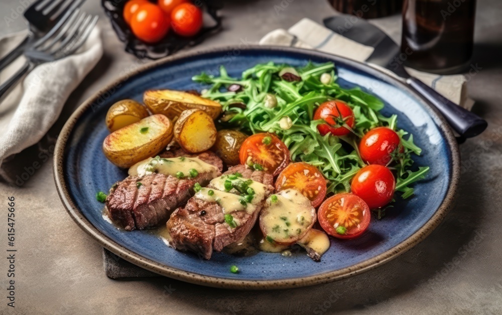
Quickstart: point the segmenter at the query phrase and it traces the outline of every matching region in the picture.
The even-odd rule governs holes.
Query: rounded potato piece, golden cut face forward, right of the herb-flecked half
[[[185,151],[198,153],[208,150],[216,141],[214,121],[203,110],[185,110],[174,125],[174,138]]]

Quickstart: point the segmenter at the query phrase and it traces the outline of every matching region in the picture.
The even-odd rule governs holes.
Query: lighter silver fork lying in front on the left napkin
[[[0,85],[0,100],[27,72],[36,66],[64,58],[77,51],[89,37],[97,19],[97,16],[80,13],[80,10],[77,9],[66,23],[54,27],[46,36],[37,40],[32,48],[25,51],[26,63],[4,84]],[[49,35],[50,33],[52,34]]]

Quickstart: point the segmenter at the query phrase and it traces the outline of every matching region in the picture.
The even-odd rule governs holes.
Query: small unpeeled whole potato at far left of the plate
[[[111,105],[106,113],[106,126],[110,132],[133,124],[150,114],[145,106],[133,99],[123,99]]]

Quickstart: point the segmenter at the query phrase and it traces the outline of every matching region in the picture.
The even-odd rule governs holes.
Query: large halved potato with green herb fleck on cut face
[[[110,133],[103,141],[103,152],[119,168],[130,168],[155,156],[172,138],[171,119],[152,115]]]

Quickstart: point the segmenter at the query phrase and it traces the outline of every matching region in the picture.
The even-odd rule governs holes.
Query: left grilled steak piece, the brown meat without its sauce
[[[170,154],[170,157],[198,157],[218,169],[216,176],[223,168],[221,160],[213,152],[187,154],[176,150],[176,155]],[[110,190],[106,198],[108,215],[127,231],[155,227],[165,223],[171,212],[193,195],[195,183],[206,185],[214,176],[214,172],[199,172],[194,178],[184,179],[156,173],[144,177],[129,176]]]

